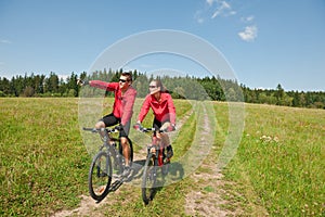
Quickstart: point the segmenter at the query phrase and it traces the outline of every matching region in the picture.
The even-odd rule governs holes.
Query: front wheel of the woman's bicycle
[[[156,181],[157,181],[157,173],[156,173],[155,165],[153,163],[153,154],[148,153],[144,164],[142,186],[141,186],[142,200],[144,204],[148,204],[148,202],[153,200]]]

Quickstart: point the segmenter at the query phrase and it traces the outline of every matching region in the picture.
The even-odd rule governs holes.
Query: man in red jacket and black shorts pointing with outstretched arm
[[[126,158],[126,165],[122,176],[129,176],[130,174],[130,146],[128,145],[128,135],[130,131],[131,117],[133,114],[133,104],[136,97],[136,90],[132,85],[132,75],[130,73],[122,73],[118,82],[105,82],[101,80],[77,80],[78,85],[90,85],[94,88],[104,89],[106,91],[113,91],[115,101],[113,105],[113,112],[95,124],[95,128],[105,128],[119,124],[120,131],[119,138],[122,145],[123,156]]]

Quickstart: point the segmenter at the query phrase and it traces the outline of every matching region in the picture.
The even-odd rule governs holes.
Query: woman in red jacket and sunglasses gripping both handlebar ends
[[[159,133],[159,129],[172,131],[176,127],[176,108],[171,95],[162,87],[160,80],[152,80],[150,84],[150,94],[146,95],[135,128],[141,126],[150,108],[154,112],[153,127],[156,129],[156,136],[161,139],[164,146],[167,149],[166,163],[170,161],[173,155],[172,146],[167,133]]]

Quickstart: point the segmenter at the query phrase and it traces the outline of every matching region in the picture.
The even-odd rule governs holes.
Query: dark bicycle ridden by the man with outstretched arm
[[[125,157],[122,155],[122,146],[120,139],[113,137],[112,133],[118,132],[115,128],[82,128],[86,131],[99,133],[103,144],[92,159],[88,175],[89,193],[92,199],[101,202],[109,192],[116,191],[127,177],[122,177]],[[133,145],[128,139],[130,146],[130,166],[133,162]]]

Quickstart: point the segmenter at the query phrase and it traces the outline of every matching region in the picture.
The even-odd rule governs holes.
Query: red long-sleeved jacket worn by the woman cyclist
[[[161,123],[169,120],[171,124],[176,124],[176,108],[169,93],[161,92],[160,102],[158,102],[152,94],[146,95],[138,120],[142,122],[150,108],[153,110],[157,120]]]

